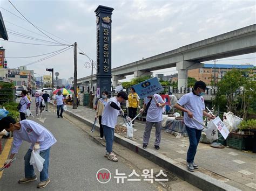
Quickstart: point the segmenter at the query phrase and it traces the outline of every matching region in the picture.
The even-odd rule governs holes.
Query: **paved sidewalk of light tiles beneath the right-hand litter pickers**
[[[68,105],[68,110],[73,114],[94,121],[95,110],[79,106],[77,110]],[[118,117],[118,123],[122,123]],[[145,122],[135,122],[133,141],[138,144],[143,142]],[[154,128],[147,148],[154,149]],[[96,132],[97,133],[97,132]],[[125,137],[126,133],[120,134]],[[156,151],[169,157],[180,164],[186,164],[186,153],[189,146],[188,137],[176,138],[162,130],[160,150]],[[199,143],[195,162],[200,166],[199,172],[212,176],[214,179],[226,182],[241,190],[256,190],[256,154],[233,148],[213,148],[208,144]]]

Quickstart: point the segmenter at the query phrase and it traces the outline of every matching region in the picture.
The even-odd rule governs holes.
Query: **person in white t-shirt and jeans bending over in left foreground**
[[[30,165],[30,157],[32,151],[36,152],[39,150],[41,157],[45,160],[43,169],[40,172],[40,181],[37,188],[44,188],[50,182],[48,168],[50,159],[50,148],[57,142],[52,133],[44,128],[44,126],[33,122],[31,120],[24,119],[23,121],[16,122],[14,118],[7,116],[0,121],[0,131],[5,129],[8,132],[12,132],[14,140],[12,142],[12,149],[9,159],[4,162],[4,166],[9,164],[14,159],[15,154],[18,152],[22,141],[31,143],[31,146],[24,156],[25,160],[25,178],[22,178],[18,183],[28,183],[36,181],[37,176],[35,174],[33,165]],[[7,165],[6,167],[9,167]]]

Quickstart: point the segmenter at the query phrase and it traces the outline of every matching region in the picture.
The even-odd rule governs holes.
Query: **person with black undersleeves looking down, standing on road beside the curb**
[[[128,100],[127,94],[123,91],[117,94],[117,97],[111,97],[105,104],[102,114],[102,126],[104,129],[104,136],[106,140],[106,153],[104,157],[117,162],[116,155],[112,152],[114,141],[114,126],[117,123],[117,116],[124,116],[124,111],[120,108],[120,103]]]

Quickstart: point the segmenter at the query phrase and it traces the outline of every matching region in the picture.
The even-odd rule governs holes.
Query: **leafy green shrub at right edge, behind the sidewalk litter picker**
[[[256,81],[252,69],[232,69],[218,82],[218,91],[214,104],[226,111],[226,105],[235,115],[246,118],[247,112],[256,111]],[[243,90],[239,92],[240,87]],[[225,97],[225,98],[224,98]],[[226,100],[226,102],[225,102]],[[223,109],[223,110],[222,110]]]

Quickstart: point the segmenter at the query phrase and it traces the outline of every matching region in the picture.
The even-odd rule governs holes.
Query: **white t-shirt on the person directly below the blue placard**
[[[158,103],[165,103],[163,98],[158,95],[158,94],[154,94],[154,97],[156,97],[156,100]],[[144,98],[144,103],[147,104],[149,103],[151,98]],[[162,114],[162,108],[161,107],[157,107],[156,102],[154,101],[154,99],[152,99],[151,103],[150,103],[150,107],[149,110],[147,110],[147,116],[146,116],[146,121],[148,122],[160,122],[163,120],[163,114]]]

